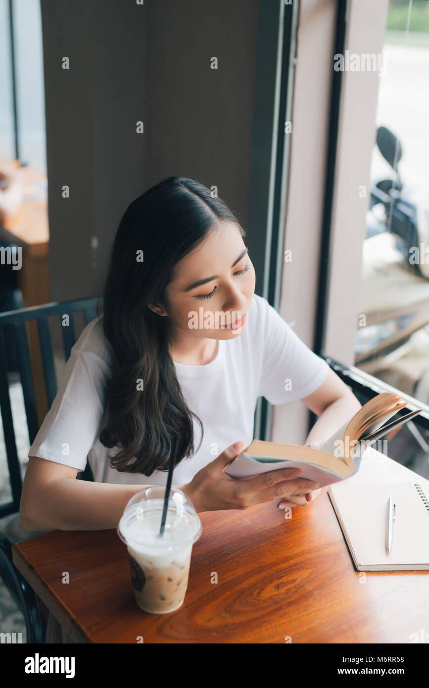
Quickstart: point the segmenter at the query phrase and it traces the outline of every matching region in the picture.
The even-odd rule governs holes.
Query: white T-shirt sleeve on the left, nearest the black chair
[[[85,470],[87,455],[100,431],[104,384],[109,365],[100,356],[74,351],[65,365],[58,393],[28,456]]]

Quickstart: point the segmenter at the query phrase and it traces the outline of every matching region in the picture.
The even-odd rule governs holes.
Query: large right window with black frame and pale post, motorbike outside
[[[393,390],[423,409],[388,455],[427,478],[429,3],[338,7],[349,67],[333,79],[315,350],[362,403]]]

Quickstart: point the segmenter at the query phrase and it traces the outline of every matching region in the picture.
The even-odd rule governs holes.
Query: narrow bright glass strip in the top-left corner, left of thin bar
[[[12,72],[8,0],[0,0],[0,155],[14,158]]]

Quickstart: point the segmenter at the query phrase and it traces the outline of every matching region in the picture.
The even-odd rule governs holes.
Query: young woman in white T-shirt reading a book
[[[173,484],[198,512],[320,490],[302,471],[234,481],[223,473],[253,438],[256,400],[302,399],[324,440],[360,404],[327,363],[254,294],[238,219],[205,186],[170,177],[133,201],[111,250],[102,313],[73,347],[29,451],[21,522],[29,530],[115,528],[129,499]],[[285,380],[289,380],[285,384]],[[75,480],[87,462],[94,482]]]

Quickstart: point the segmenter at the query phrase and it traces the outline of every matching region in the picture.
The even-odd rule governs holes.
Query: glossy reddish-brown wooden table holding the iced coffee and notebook
[[[429,496],[428,480],[373,449],[349,480],[419,482]],[[356,571],[326,492],[291,520],[271,502],[201,522],[171,614],[135,605],[115,530],[54,530],[14,544],[14,564],[78,643],[409,643],[428,627],[429,572]]]

